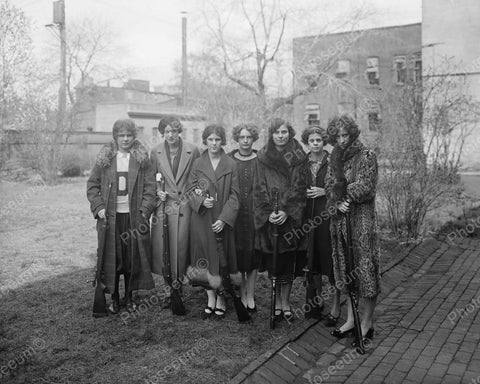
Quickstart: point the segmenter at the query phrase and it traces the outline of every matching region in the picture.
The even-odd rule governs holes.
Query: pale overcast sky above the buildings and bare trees
[[[52,0],[10,0],[30,18],[35,45],[41,52],[44,44],[55,37],[45,28],[52,22]],[[207,0],[65,0],[68,23],[85,17],[95,18],[111,27],[118,44],[126,52],[119,63],[134,67],[136,78],[150,80],[152,84],[172,79],[175,61],[181,57],[181,11],[188,12],[188,50],[200,51],[205,34],[202,32],[203,11]],[[257,0],[252,0],[257,1]],[[286,0],[288,1],[288,0]],[[292,0],[290,0],[292,1]],[[295,7],[312,7],[320,0],[295,0]],[[338,5],[348,7],[358,0],[323,0],[329,3],[327,13],[341,12]],[[374,10],[374,16],[362,27],[409,24],[421,21],[421,0],[365,0]],[[223,0],[210,3],[225,4]],[[310,21],[309,23],[311,23]],[[313,21],[314,23],[314,21]],[[315,34],[310,25],[289,26],[287,38]],[[203,41],[202,41],[203,37]],[[68,37],[67,37],[68,38]],[[288,43],[290,44],[290,43]],[[96,79],[97,80],[97,79]]]

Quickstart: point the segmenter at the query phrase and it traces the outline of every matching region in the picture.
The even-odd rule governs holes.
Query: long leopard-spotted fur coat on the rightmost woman
[[[337,284],[342,284],[346,292],[346,283],[352,278],[360,297],[374,298],[380,293],[380,256],[375,218],[375,193],[378,180],[378,165],[375,153],[367,149],[358,139],[352,148],[357,153],[344,162],[343,173],[346,178],[346,192],[352,200],[350,221],[352,228],[354,270],[347,274],[345,260],[346,215],[337,213],[331,217],[333,271]],[[334,206],[335,183],[338,182],[332,169],[327,170],[325,191],[329,206]],[[340,287],[340,286],[339,286]]]

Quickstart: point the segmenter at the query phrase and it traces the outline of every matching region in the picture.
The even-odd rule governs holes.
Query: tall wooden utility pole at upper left
[[[57,133],[65,126],[65,111],[67,109],[67,34],[65,29],[65,1],[53,3],[53,23],[58,25],[60,32],[60,87],[58,89]]]

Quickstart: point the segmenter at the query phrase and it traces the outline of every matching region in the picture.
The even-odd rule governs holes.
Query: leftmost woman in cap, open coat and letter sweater
[[[147,149],[135,139],[136,133],[132,120],[117,120],[114,140],[100,150],[87,181],[97,227],[99,219],[108,220],[102,283],[112,295],[112,313],[119,311],[120,274],[129,312],[135,310],[132,291],[154,288],[148,220],[155,209],[155,178]]]

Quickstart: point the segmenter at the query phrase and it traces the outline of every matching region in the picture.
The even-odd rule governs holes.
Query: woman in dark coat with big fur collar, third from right
[[[302,225],[305,211],[306,184],[303,174],[305,152],[294,139],[295,130],[283,119],[273,119],[268,142],[258,152],[259,172],[254,187],[254,219],[257,236],[255,250],[262,255],[260,270],[272,274],[273,226],[278,226],[278,278],[275,315],[293,319],[290,291],[295,276],[300,275],[304,260],[299,262],[300,238],[296,231]],[[278,192],[278,213],[274,211]]]

